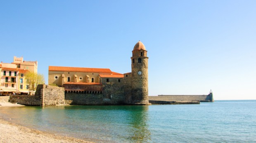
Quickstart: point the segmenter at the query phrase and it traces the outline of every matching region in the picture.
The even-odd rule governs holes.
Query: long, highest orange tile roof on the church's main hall
[[[112,74],[110,69],[88,68],[88,67],[57,67],[49,66],[49,71],[68,71],[68,72],[94,72],[102,74]]]

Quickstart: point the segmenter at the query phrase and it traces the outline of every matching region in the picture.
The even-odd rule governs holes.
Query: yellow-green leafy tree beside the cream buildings
[[[28,81],[29,84],[29,91],[34,91],[36,90],[36,87],[38,84],[44,84],[45,83],[45,78],[43,74],[37,74],[31,71],[28,71],[25,74],[25,78]]]

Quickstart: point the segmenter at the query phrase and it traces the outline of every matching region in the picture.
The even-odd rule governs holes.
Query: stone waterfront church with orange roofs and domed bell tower
[[[48,84],[64,87],[65,103],[76,105],[147,105],[148,57],[142,42],[132,51],[131,72],[110,69],[49,66]]]

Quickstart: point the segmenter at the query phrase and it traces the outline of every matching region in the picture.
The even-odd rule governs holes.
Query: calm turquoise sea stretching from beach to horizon
[[[95,142],[256,142],[256,100],[0,108],[11,122]],[[11,120],[10,120],[11,118]]]

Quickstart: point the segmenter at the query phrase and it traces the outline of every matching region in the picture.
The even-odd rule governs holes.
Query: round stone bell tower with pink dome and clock
[[[131,76],[131,104],[149,104],[148,100],[148,57],[142,42],[133,48]]]

